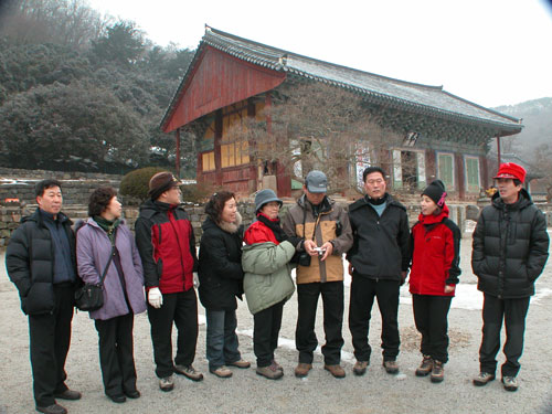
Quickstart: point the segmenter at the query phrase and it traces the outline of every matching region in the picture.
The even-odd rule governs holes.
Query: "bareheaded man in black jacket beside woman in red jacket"
[[[347,258],[352,275],[349,329],[357,363],[353,373],[362,375],[370,362],[368,331],[374,297],[382,317],[383,367],[399,372],[399,288],[408,269],[408,217],[406,209],[385,192],[385,173],[368,167],[362,178],[367,195],[349,206],[353,245]]]

